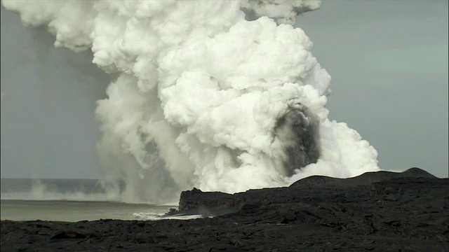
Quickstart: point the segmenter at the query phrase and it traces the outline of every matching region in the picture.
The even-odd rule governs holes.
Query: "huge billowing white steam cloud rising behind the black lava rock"
[[[95,64],[120,73],[96,113],[103,181],[124,181],[122,200],[168,202],[193,186],[233,193],[379,169],[367,141],[328,120],[330,76],[304,31],[288,25],[319,1],[3,4],[25,25],[46,25],[55,46],[91,48]],[[289,139],[302,139],[279,127],[292,110],[304,127],[316,124],[319,158],[287,171]]]

